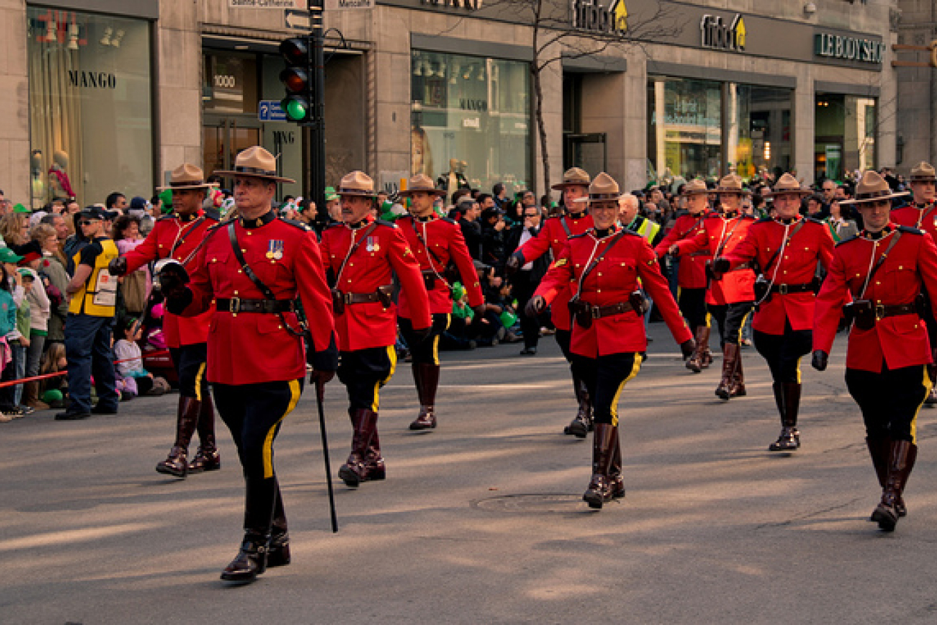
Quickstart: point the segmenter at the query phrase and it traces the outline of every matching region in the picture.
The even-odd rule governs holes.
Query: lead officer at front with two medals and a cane
[[[191,281],[181,263],[164,266],[159,279],[173,313],[212,311],[207,375],[246,486],[244,542],[221,579],[250,582],[268,566],[290,563],[274,442],[299,401],[306,363],[313,367],[310,381],[320,386],[335,375],[338,350],[316,236],[273,210],[277,183],[294,181],[276,174],[275,157],[260,146],[239,154],[232,171],[216,173],[234,177],[239,217],[209,232]],[[308,328],[297,315],[297,298]]]

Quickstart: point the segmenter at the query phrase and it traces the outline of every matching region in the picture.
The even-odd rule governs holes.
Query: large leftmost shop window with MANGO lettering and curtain
[[[27,9],[34,207],[153,192],[150,26]]]

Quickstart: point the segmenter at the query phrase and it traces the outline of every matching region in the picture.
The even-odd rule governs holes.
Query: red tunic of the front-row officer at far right
[[[823,288],[817,295],[813,321],[813,350],[826,353],[833,347],[842,305],[855,299],[870,300],[874,305],[906,305],[915,302],[922,284],[929,293],[937,293],[937,246],[923,231],[886,227],[885,236],[873,241],[865,236],[847,239],[836,246]],[[882,257],[893,237],[900,231],[899,242],[885,262],[862,286],[870,268]],[[934,298],[930,298],[931,304]],[[924,324],[915,314],[896,315],[878,320],[870,330],[853,326],[849,333],[846,367],[881,372],[883,360],[889,369],[930,363],[930,342]]]

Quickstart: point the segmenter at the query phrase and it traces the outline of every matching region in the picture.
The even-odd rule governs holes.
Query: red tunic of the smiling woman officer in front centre
[[[667,280],[661,275],[657,256],[647,244],[647,239],[632,231],[623,231],[620,237],[582,280],[580,299],[594,306],[628,302],[632,291],[639,289],[640,278],[677,343],[690,340],[690,330],[680,316]],[[558,293],[568,289],[570,284],[573,284],[575,292],[580,276],[590,262],[599,258],[616,238],[609,235],[600,239],[594,229],[570,237],[534,294],[543,296],[550,303],[556,302]],[[573,353],[587,358],[647,350],[644,318],[629,311],[593,320],[589,328],[573,322],[571,349]]]

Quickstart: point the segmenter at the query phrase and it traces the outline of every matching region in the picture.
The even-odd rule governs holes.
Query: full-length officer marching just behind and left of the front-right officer
[[[751,330],[755,349],[771,371],[781,414],[781,436],[768,446],[772,452],[800,447],[800,359],[811,352],[817,262],[826,267],[833,256],[829,229],[822,221],[800,216],[800,199],[810,194],[794,176],[782,175],[767,194],[774,198],[777,216],[753,223],[741,243],[712,264],[717,277],[739,264],[761,268]]]

